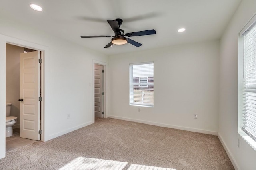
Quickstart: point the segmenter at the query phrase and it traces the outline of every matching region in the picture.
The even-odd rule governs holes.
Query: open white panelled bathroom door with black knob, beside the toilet
[[[20,54],[20,137],[40,140],[40,52]]]

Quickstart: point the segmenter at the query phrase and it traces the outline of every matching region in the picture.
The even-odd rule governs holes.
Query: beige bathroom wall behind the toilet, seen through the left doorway
[[[6,44],[6,103],[12,103],[10,116],[18,118],[13,128],[20,127],[20,53],[23,47]]]

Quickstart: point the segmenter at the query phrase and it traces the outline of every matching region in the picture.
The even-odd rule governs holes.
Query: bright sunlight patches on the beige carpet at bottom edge
[[[128,162],[120,162],[120,161],[104,160],[104,159],[96,159],[96,158],[84,158],[80,156],[72,160],[70,163],[66,164],[59,170],[78,170],[78,169],[122,170],[127,164]],[[128,170],[176,170],[176,169],[131,164]]]

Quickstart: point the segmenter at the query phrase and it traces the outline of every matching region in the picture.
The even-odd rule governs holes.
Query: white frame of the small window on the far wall
[[[153,64],[153,83],[148,83],[148,77],[151,76],[141,76],[142,78],[147,78],[147,83],[140,83],[140,78],[138,77],[138,83],[135,83],[138,85],[139,88],[148,88],[148,86],[151,86],[153,88],[153,100],[152,100],[152,105],[151,104],[146,104],[146,103],[134,103],[134,95],[133,95],[133,90],[134,90],[134,83],[133,83],[133,66],[134,65],[143,65],[143,64]],[[142,86],[142,87],[141,87]],[[141,106],[141,107],[154,107],[154,62],[145,62],[145,63],[130,63],[129,65],[129,105],[130,106]]]

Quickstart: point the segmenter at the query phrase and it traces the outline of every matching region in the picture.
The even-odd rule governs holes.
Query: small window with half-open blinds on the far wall
[[[154,63],[130,64],[130,105],[153,107]]]

